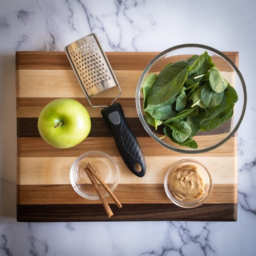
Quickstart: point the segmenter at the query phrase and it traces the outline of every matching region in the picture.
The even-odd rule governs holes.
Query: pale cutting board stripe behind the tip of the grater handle
[[[113,157],[119,166],[119,184],[163,184],[170,165],[184,157],[145,157],[146,175],[135,176],[125,166],[121,157]],[[209,169],[214,184],[237,183],[237,165],[234,157],[190,157],[197,159]],[[20,173],[17,183],[31,184],[70,184],[70,167],[76,157],[21,157],[18,158]],[[44,163],[44,164],[42,164]],[[157,163],[157,164],[156,164]],[[226,168],[226,166],[229,166]]]

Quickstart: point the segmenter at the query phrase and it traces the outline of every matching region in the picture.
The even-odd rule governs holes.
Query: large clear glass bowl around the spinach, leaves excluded
[[[187,58],[197,54],[201,55],[207,51],[211,56],[212,63],[221,71],[225,79],[234,87],[238,93],[238,101],[234,105],[234,114],[231,119],[224,122],[221,126],[211,131],[200,131],[193,137],[197,141],[197,148],[190,148],[181,146],[172,142],[167,136],[164,137],[163,131],[160,129],[155,130],[155,127],[149,125],[145,119],[145,112],[143,111],[143,93],[142,85],[145,79],[152,73],[159,74],[160,71],[170,62],[186,60]],[[185,44],[169,48],[155,58],[145,67],[141,74],[137,90],[136,90],[136,108],[139,119],[145,131],[158,143],[181,153],[202,153],[213,150],[224,142],[229,140],[237,132],[238,127],[244,117],[246,108],[246,86],[243,76],[237,66],[229,57],[224,53],[205,45],[198,44]]]

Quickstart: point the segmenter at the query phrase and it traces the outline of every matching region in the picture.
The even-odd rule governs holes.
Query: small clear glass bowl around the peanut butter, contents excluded
[[[172,176],[172,174],[175,172],[175,170],[177,168],[180,168],[185,165],[196,166],[205,182],[203,194],[196,199],[180,200],[175,196],[175,194],[174,194],[175,191],[173,191],[170,186],[170,184],[172,182],[170,177]],[[164,177],[164,190],[165,190],[167,197],[174,204],[176,204],[180,207],[183,207],[183,208],[194,208],[194,207],[197,207],[197,206],[203,204],[209,198],[211,191],[212,191],[212,187],[213,187],[213,184],[212,184],[212,178],[211,178],[210,172],[202,163],[200,163],[199,161],[194,160],[194,159],[184,159],[184,160],[180,160],[180,161],[174,163],[172,166],[170,166],[170,168],[168,169],[168,171]]]

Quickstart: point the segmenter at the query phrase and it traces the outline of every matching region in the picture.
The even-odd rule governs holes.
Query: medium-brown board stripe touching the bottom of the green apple
[[[182,154],[176,151],[168,150],[148,137],[137,137],[145,156],[181,156],[183,158],[195,157],[198,154]],[[205,141],[204,137],[201,141]],[[206,157],[236,157],[237,149],[234,142],[237,137],[232,137],[221,147],[208,152],[200,153],[200,156]],[[99,143],[100,142],[100,143]],[[87,151],[103,151],[111,156],[119,156],[113,137],[88,137],[80,144],[72,148],[56,148],[47,144],[41,138],[18,138],[18,157],[77,157]]]

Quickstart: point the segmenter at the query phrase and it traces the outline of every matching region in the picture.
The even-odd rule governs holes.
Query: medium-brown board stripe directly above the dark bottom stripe
[[[80,197],[71,185],[19,185],[17,189],[18,204],[101,204],[99,200],[88,200]],[[131,190],[136,191],[136,194],[131,195]],[[215,184],[205,203],[237,203],[235,191],[237,191],[237,184]],[[161,184],[119,184],[114,194],[122,204],[154,204],[156,202],[158,204],[172,204]],[[109,203],[114,203],[111,197],[106,197],[106,200]]]

